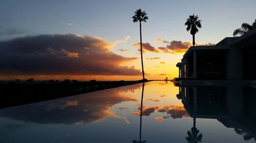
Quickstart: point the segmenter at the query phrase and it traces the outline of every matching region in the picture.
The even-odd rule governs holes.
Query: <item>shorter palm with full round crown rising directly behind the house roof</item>
[[[190,30],[190,34],[193,35],[193,46],[195,46],[195,34],[198,32],[198,28],[201,28],[201,20],[198,20],[198,16],[196,15],[189,15],[189,18],[187,18],[187,21],[185,25],[187,26],[186,30]]]

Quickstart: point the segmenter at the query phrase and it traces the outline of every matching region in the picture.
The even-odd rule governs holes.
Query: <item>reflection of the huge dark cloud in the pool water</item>
[[[134,84],[141,87],[142,84]],[[127,88],[127,87],[126,87]],[[0,117],[39,124],[83,124],[100,122],[106,117],[127,119],[115,115],[112,106],[124,101],[138,101],[122,95],[122,88],[98,91],[45,102],[10,107],[0,110]],[[28,110],[29,109],[29,110]]]

